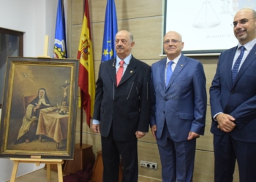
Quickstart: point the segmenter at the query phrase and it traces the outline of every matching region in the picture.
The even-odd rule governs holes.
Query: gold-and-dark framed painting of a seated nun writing
[[[78,60],[7,58],[0,157],[73,159]]]

